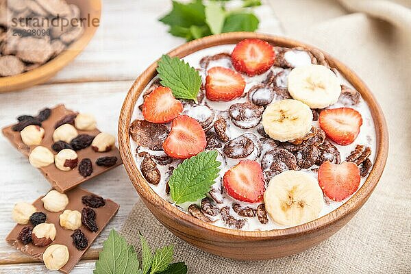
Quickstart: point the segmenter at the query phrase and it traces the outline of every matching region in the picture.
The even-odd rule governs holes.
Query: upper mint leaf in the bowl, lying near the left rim
[[[201,86],[199,72],[177,57],[162,55],[158,62],[158,76],[163,86],[171,88],[177,99],[192,99],[197,102]]]

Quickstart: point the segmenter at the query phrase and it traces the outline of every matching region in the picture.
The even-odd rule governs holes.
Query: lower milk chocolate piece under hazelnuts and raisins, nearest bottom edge
[[[66,206],[66,210],[78,210],[79,212],[81,212],[82,208],[84,208],[84,205],[82,203],[82,197],[84,195],[93,195],[93,194],[82,188],[75,188],[73,190],[70,190],[69,192],[66,192],[66,195],[69,197],[69,204]],[[99,229],[97,230],[97,232],[90,232],[90,230],[84,227],[84,225],[80,227],[80,229],[85,234],[88,240],[88,247],[82,251],[79,251],[73,245],[73,239],[71,238],[71,234],[73,234],[73,230],[64,229],[63,227],[60,226],[59,216],[60,214],[62,214],[62,212],[47,211],[43,207],[43,203],[41,201],[42,197],[34,201],[33,206],[35,206],[37,210],[40,212],[46,212],[47,223],[53,223],[55,225],[55,229],[57,233],[55,234],[55,239],[53,240],[53,242],[51,242],[51,245],[55,245],[55,244],[66,245],[66,247],[69,248],[69,253],[70,253],[69,262],[67,262],[60,269],[62,273],[69,273],[73,269],[73,267],[77,264],[77,262],[79,262],[79,260],[82,258],[83,254],[86,252],[88,247],[92,245],[92,242],[94,242],[94,240],[97,238],[97,236],[99,236],[99,234],[104,229],[104,227],[110,222],[110,220],[117,213],[117,211],[119,210],[119,205],[117,203],[114,203],[114,201],[110,199],[105,199],[105,206],[94,209],[96,212],[97,226],[99,227]],[[23,227],[25,226],[27,225],[16,225],[14,229],[12,229],[12,232],[10,232],[10,234],[7,236],[7,238],[5,238],[5,240],[6,242],[8,242],[9,245],[16,247],[16,249],[27,254],[28,256],[31,256],[32,258],[36,260],[42,261],[42,253],[47,249],[48,246],[36,247],[33,245],[32,242],[29,242],[27,245],[24,245],[23,242],[21,242],[21,240],[18,240],[18,234],[21,232],[21,229],[23,229]],[[33,227],[33,225],[31,224],[29,224],[29,226]]]

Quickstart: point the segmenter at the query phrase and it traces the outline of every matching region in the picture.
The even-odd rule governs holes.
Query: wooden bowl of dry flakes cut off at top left
[[[90,21],[92,18],[99,18],[101,16],[101,0],[66,0],[67,3],[75,4],[81,10],[81,17],[87,18],[90,14]],[[68,65],[76,58],[77,55],[88,45],[92,36],[94,36],[97,27],[85,24],[84,34],[62,53],[60,53],[53,60],[42,64],[32,71],[21,73],[19,75],[0,77],[0,93],[9,92],[12,90],[21,90],[46,82],[53,77],[58,71]]]

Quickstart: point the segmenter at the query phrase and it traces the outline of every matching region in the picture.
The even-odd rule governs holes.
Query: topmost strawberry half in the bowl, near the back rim
[[[239,42],[232,52],[234,68],[249,76],[268,71],[274,63],[274,50],[260,39],[245,39]]]

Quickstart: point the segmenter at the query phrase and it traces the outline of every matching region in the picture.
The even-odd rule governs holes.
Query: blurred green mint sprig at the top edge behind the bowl
[[[173,1],[173,9],[160,18],[170,26],[173,36],[193,39],[222,32],[253,32],[258,29],[258,18],[252,8],[260,0],[243,0],[238,7],[227,9],[226,0],[192,0],[188,3]]]

